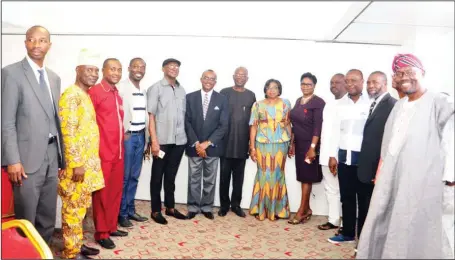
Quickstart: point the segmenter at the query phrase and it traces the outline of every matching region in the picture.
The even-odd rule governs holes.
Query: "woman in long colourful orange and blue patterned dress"
[[[250,117],[250,156],[257,163],[250,214],[258,220],[289,218],[284,167],[291,140],[291,103],[280,98],[282,86],[269,79],[265,99],[254,103]]]

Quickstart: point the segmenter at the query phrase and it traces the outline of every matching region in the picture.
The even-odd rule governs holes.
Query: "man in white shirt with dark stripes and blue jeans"
[[[146,90],[141,88],[139,84],[144,78],[145,66],[145,61],[142,58],[132,59],[128,67],[128,79],[119,84],[119,94],[123,99],[123,126],[125,129],[125,173],[118,219],[118,223],[122,227],[132,227],[133,224],[130,220],[147,221],[147,218],[139,215],[134,207],[134,198],[148,135]]]

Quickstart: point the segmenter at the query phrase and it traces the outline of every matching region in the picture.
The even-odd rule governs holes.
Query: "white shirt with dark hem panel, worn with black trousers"
[[[370,105],[367,95],[355,103],[350,97],[338,102],[332,127],[332,136],[337,138],[332,138],[329,149],[330,157],[338,158],[338,163],[357,165]]]

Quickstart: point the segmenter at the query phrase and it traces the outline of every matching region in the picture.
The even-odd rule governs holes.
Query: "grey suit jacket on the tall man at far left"
[[[58,112],[61,80],[46,68],[55,111]],[[47,96],[46,96],[47,95]],[[38,171],[49,142],[49,122],[55,119],[59,168],[65,168],[60,119],[54,114],[49,93],[41,91],[27,59],[2,69],[2,165],[22,163],[27,174]]]

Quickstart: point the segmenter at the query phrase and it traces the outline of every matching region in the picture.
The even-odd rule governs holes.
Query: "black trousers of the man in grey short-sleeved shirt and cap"
[[[150,197],[152,199],[152,213],[161,211],[161,187],[164,186],[164,206],[175,206],[175,176],[179,170],[185,145],[160,145],[165,152],[163,159],[153,157],[152,176],[150,179]],[[164,185],[163,185],[164,176]]]

